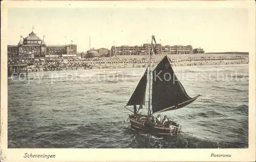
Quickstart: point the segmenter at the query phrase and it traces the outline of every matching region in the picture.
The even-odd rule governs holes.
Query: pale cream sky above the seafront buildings
[[[34,33],[47,45],[77,50],[151,43],[192,45],[206,52],[248,51],[246,8],[10,8],[8,44]]]

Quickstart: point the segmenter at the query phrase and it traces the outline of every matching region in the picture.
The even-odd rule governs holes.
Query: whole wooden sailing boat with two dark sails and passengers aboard
[[[129,120],[133,128],[150,132],[157,136],[178,135],[181,130],[180,124],[171,120],[167,120],[165,122],[167,124],[161,124],[159,122],[156,124],[154,122],[156,119],[154,114],[180,109],[194,102],[201,95],[193,98],[188,96],[174,73],[171,65],[172,60],[167,55],[151,70],[152,55],[156,52],[156,45],[153,45],[153,40],[156,44],[154,36],[152,36],[152,51],[149,65],[126,104],[126,106],[133,105],[135,107],[139,105],[139,110],[142,106],[145,106],[146,86],[147,82],[149,82],[147,115],[140,115],[138,114],[139,110],[137,111],[135,109],[134,114],[129,115]],[[124,106],[125,109],[128,109],[126,106]]]

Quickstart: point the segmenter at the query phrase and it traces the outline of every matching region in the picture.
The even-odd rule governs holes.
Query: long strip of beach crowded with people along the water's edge
[[[153,59],[152,67],[155,67],[161,60]],[[23,63],[29,63],[26,60]],[[172,62],[172,66],[202,66],[202,65],[228,65],[228,64],[248,64],[247,59],[237,60],[207,60],[207,61],[190,61],[178,59],[178,61]],[[98,58],[98,59],[86,59],[78,61],[63,61],[63,60],[51,60],[51,61],[39,61],[29,64],[28,72],[38,71],[59,71],[59,70],[77,70],[77,69],[126,69],[126,68],[145,68],[148,66],[148,61],[145,59],[124,59],[119,58]]]

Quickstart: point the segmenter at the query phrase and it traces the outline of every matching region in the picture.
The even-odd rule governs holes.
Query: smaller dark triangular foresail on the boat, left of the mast
[[[131,96],[130,100],[126,104],[126,106],[134,105],[134,104],[136,105],[145,104],[146,84],[147,84],[147,68],[143,76],[141,77],[138,86],[133,92],[133,95]]]

